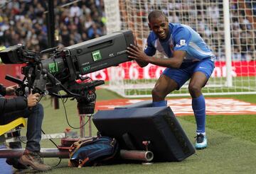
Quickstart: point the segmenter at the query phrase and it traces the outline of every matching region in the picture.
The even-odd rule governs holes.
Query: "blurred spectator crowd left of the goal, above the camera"
[[[67,47],[106,34],[103,0],[55,0],[56,45]],[[2,0],[0,47],[23,44],[28,50],[48,48],[48,1]]]

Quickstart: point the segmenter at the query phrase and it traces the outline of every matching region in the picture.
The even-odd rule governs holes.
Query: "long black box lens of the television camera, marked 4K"
[[[120,30],[63,50],[74,63],[75,71],[83,75],[132,60],[126,52],[131,44],[134,44],[132,30]]]

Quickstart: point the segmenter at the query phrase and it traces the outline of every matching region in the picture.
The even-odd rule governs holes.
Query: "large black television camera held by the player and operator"
[[[104,81],[90,81],[84,75],[130,61],[126,49],[133,43],[132,31],[120,30],[63,49],[53,47],[33,52],[24,45],[15,45],[2,50],[0,57],[4,64],[25,64],[21,68],[23,80],[6,76],[7,80],[21,86],[16,95],[26,95],[25,89],[28,88],[29,93],[75,98],[79,113],[91,114],[95,109],[95,86]],[[41,58],[49,53],[48,59]],[[60,95],[59,91],[66,94]]]

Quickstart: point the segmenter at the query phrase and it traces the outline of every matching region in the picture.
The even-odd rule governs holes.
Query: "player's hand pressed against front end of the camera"
[[[139,62],[149,62],[149,57],[137,45],[127,47],[129,58],[138,60]]]

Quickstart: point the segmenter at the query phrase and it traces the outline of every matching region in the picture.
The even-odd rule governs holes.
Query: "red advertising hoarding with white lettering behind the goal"
[[[0,83],[9,86],[13,83],[6,81],[5,75],[9,74],[16,78],[22,79],[21,66],[23,64],[1,64],[1,74]],[[143,69],[138,66],[136,62],[126,62],[124,64],[119,64],[119,69],[115,70],[119,76],[123,76],[124,79],[157,79],[161,72],[164,71],[164,67],[156,66],[154,64],[149,64]],[[232,62],[232,76],[256,76],[256,61],[250,62]],[[109,80],[109,69],[102,69],[100,71],[87,74],[92,80]],[[215,69],[213,71],[212,77],[225,77],[226,76],[226,66],[225,62],[215,62]]]

